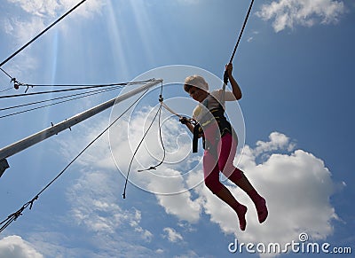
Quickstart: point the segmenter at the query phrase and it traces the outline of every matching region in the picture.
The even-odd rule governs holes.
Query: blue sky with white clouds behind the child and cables
[[[0,59],[77,2],[2,0]],[[199,73],[211,88],[221,86],[217,78],[231,57],[248,4],[88,0],[2,68],[20,82],[34,84],[129,82],[154,76],[166,83],[167,103],[188,114],[193,101],[171,82]],[[307,233],[309,243],[350,246],[353,251],[354,12],[351,1],[254,4],[233,59],[243,98],[239,106],[227,106],[227,114],[232,120],[238,114],[233,124],[241,152],[235,163],[267,199],[270,216],[264,224],[257,223],[247,196],[224,181],[248,206],[247,231],[239,230],[233,211],[201,184],[202,152],[190,152],[191,136],[167,112],[162,113],[166,162],[154,173],[136,172],[162,155],[155,123],[133,162],[127,199],[122,199],[132,152],[158,105],[156,88],[43,192],[32,210],[1,233],[0,256],[248,257],[255,254],[246,249],[231,253],[229,244],[238,239],[285,245],[299,241],[301,233]],[[0,74],[1,95],[24,92],[14,90],[9,81]],[[122,92],[1,118],[0,147]],[[0,107],[43,98],[3,98]],[[8,158],[11,168],[0,178],[0,220],[32,199],[126,106],[115,106]],[[181,193],[162,194],[171,192]],[[279,257],[296,255],[305,254]]]

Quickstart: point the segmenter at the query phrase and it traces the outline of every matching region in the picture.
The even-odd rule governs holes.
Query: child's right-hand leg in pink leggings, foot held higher
[[[241,190],[247,192],[250,199],[253,200],[259,223],[264,223],[267,218],[268,210],[266,207],[266,201],[255,190],[252,184],[248,181],[248,178],[239,168],[233,166],[233,160],[236,153],[236,142],[233,143],[233,137],[231,134],[225,134],[220,141],[220,154],[218,159],[218,166],[221,171],[228,177],[234,184],[238,185]]]

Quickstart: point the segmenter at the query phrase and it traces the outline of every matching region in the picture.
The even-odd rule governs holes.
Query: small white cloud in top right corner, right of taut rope
[[[345,12],[342,1],[333,0],[279,0],[263,4],[256,15],[273,20],[275,32],[297,25],[312,27],[315,24],[336,23]]]

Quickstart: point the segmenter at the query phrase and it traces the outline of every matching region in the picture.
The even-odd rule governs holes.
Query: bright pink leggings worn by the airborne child
[[[230,133],[225,133],[217,142],[216,137],[210,137],[216,129],[207,129],[205,131],[206,143],[209,143],[215,151],[206,149],[203,154],[203,172],[205,184],[213,193],[221,191],[224,187],[219,182],[219,171],[221,171],[234,184],[241,179],[243,175],[239,168],[235,168],[233,160],[237,152],[237,139],[233,139]]]

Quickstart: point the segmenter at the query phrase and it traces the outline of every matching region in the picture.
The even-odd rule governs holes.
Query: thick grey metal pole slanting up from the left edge
[[[161,82],[162,82],[162,79],[148,82],[145,85],[143,85],[135,90],[130,90],[129,92],[123,94],[122,96],[119,96],[117,98],[112,98],[112,99],[106,101],[105,103],[100,104],[99,106],[94,106],[91,109],[84,111],[83,113],[76,114],[75,116],[69,118],[66,121],[61,121],[58,124],[51,126],[50,128],[43,129],[42,131],[40,131],[32,136],[26,137],[16,143],[12,144],[12,145],[8,145],[8,146],[0,149],[0,176],[3,175],[4,170],[6,168],[9,168],[9,166],[5,160],[6,158],[12,156],[13,154],[15,154],[17,152],[21,152],[32,145],[36,145],[37,143],[43,141],[44,139],[46,139],[48,137],[52,137],[54,135],[57,135],[60,131],[71,128],[75,124],[82,122],[97,113],[101,113],[104,110],[106,110],[107,108],[114,106],[114,105],[120,103],[121,101],[138,94],[139,92],[142,92],[144,90],[148,90],[148,89],[152,88],[154,85],[159,84]],[[1,166],[1,164],[3,164],[3,166]]]

